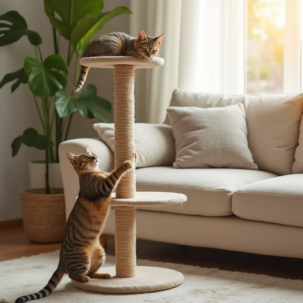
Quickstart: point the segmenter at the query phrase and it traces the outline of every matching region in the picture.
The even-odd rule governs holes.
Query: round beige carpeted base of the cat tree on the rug
[[[109,273],[109,279],[91,279],[89,282],[72,280],[78,288],[108,294],[134,294],[142,292],[160,291],[180,285],[184,277],[173,269],[137,266],[136,276],[132,278],[118,278],[115,276],[115,267],[102,267],[102,273]]]

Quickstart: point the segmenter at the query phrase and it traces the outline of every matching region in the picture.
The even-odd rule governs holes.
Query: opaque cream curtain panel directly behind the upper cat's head
[[[136,70],[138,122],[163,122],[171,93],[178,87],[181,7],[182,0],[131,0],[130,34],[136,36],[141,29],[149,36],[165,34],[159,53],[165,64],[161,68]]]

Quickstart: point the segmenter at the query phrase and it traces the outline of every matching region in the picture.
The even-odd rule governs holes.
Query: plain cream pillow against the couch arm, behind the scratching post
[[[100,138],[115,151],[115,124],[95,123]],[[136,167],[171,166],[175,160],[175,142],[171,127],[165,124],[135,123]]]

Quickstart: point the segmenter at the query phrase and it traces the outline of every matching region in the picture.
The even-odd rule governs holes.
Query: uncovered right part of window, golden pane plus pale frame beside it
[[[246,92],[291,93],[301,84],[302,0],[246,0]]]

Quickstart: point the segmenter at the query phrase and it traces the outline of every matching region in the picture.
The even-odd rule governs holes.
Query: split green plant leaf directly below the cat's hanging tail
[[[55,107],[60,118],[67,117],[77,111],[86,118],[100,118],[108,122],[103,111],[112,113],[112,105],[104,98],[97,96],[95,85],[88,85],[83,94],[78,98],[72,98],[65,89],[55,94]]]

